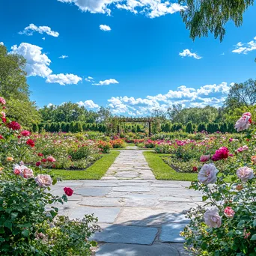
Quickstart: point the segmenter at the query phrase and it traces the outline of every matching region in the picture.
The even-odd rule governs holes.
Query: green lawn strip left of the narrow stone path
[[[85,171],[52,170],[52,173],[63,180],[100,180],[119,154],[118,151],[111,151]]]

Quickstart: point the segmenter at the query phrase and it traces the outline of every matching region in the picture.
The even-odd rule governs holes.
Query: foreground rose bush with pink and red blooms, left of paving
[[[5,115],[0,123],[0,255],[91,255],[95,243],[88,237],[98,229],[91,225],[97,219],[85,216],[78,222],[57,216],[58,204],[73,190],[52,195],[56,177],[47,174],[41,162],[34,168],[23,162],[36,147],[30,132]],[[48,156],[47,161],[55,159]]]

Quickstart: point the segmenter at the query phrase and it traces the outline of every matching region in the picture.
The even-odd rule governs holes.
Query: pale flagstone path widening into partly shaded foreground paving
[[[121,150],[102,180],[64,181],[74,194],[60,213],[82,218],[94,213],[103,231],[95,234],[99,256],[176,256],[183,250],[184,211],[201,202],[189,182],[155,180],[141,150]]]

